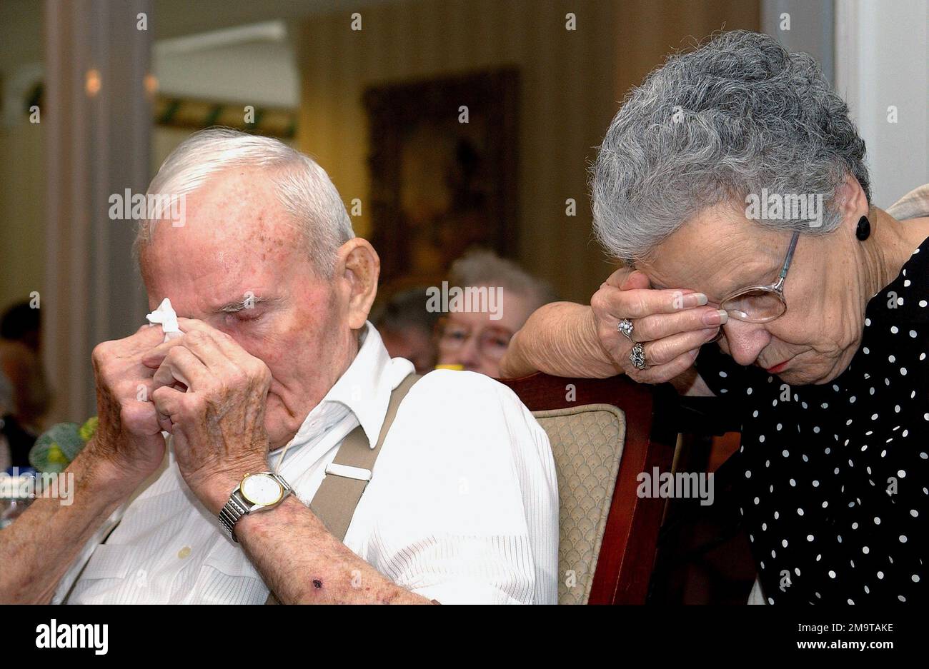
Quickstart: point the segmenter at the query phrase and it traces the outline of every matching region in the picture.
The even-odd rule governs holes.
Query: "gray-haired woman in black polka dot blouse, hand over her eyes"
[[[591,306],[537,311],[503,362],[723,398],[769,603],[926,598],[929,199],[877,209],[864,157],[808,56],[728,32],[669,58],[593,170],[627,266]]]

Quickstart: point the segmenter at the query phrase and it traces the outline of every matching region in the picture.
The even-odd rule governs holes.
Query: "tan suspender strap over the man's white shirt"
[[[400,402],[403,401],[406,393],[410,392],[412,385],[421,378],[419,375],[411,374],[400,381],[399,386],[390,393],[384,425],[381,427],[381,434],[377,438],[377,444],[374,444],[373,448],[361,426],[358,426],[348,432],[347,437],[335,454],[333,464],[373,471],[374,460],[381,453],[381,446],[384,445],[387,431],[390,430],[390,425],[397,416]],[[352,479],[327,471],[320,484],[320,489],[316,491],[316,495],[313,495],[313,501],[309,503],[310,510],[316,514],[316,517],[325,524],[326,529],[339,541],[345,539],[348,525],[351,523],[352,516],[355,515],[355,508],[358,507],[361,495],[367,485],[367,480]],[[281,602],[272,592],[268,594],[268,600],[265,603],[280,604]]]

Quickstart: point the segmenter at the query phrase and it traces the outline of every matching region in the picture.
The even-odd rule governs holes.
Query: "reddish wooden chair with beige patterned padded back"
[[[534,374],[502,383],[548,433],[556,460],[559,604],[643,604],[665,500],[639,497],[640,472],[670,471],[673,390]]]

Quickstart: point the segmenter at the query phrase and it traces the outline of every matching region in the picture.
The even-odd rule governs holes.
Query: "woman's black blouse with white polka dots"
[[[770,604],[926,600],[929,239],[865,316],[857,354],[822,385],[700,351],[700,376],[741,417],[736,502]]]

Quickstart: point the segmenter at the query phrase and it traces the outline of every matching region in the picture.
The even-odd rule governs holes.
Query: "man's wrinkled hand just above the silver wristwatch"
[[[271,373],[228,334],[179,318],[183,337],[145,357],[155,369],[157,420],[174,435],[177,467],[214,513],[247,472],[268,470],[265,405]]]

